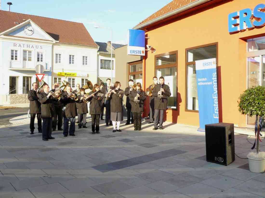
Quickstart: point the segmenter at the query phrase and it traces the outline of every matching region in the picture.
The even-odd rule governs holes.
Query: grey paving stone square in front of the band
[[[123,121],[122,131],[112,133],[100,120],[100,134],[89,122],[87,129],[76,125],[74,137],[55,131],[55,140],[44,142],[29,134],[28,122],[20,116],[0,128],[1,198],[265,197],[265,174],[250,172],[247,159],[228,166],[206,161],[205,134],[195,126],[165,122],[153,131],[143,122],[134,131]],[[242,158],[254,140],[246,138],[235,134]]]

